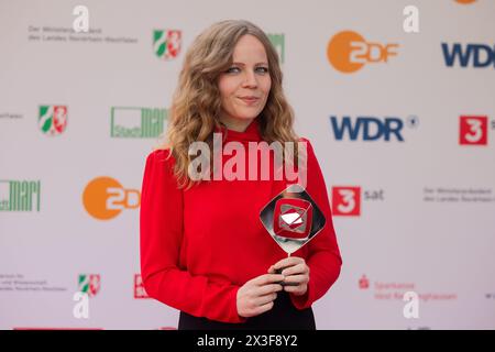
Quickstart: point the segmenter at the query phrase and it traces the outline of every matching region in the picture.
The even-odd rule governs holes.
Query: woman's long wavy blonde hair
[[[170,148],[179,188],[189,188],[197,183],[188,175],[191,163],[188,150],[193,142],[208,143],[210,161],[213,160],[213,132],[216,128],[222,128],[219,121],[221,97],[218,79],[231,66],[234,46],[246,34],[255,36],[263,44],[272,79],[266,105],[257,117],[262,139],[267,143],[294,142],[294,160],[297,161],[299,138],[293,128],[294,111],[283,91],[277,52],[255,24],[242,20],[221,21],[199,34],[188,48],[172,100],[167,133],[157,146],[158,150]]]

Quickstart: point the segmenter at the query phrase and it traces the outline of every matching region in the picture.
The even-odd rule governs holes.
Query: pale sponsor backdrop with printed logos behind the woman
[[[344,263],[318,328],[494,329],[494,16],[492,0],[0,0],[0,328],[177,327],[140,277],[144,161],[195,36],[248,19],[334,212]]]

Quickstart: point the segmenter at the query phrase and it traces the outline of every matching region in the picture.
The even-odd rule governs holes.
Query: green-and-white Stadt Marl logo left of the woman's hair
[[[110,135],[122,139],[158,138],[167,119],[166,109],[112,107]]]

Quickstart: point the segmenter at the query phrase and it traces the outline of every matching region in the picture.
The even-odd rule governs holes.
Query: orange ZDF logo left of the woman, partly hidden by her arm
[[[114,178],[97,177],[89,182],[82,194],[86,211],[99,220],[109,220],[123,209],[140,207],[141,194],[136,189],[125,189]]]

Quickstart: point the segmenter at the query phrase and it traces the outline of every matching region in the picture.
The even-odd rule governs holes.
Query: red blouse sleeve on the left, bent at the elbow
[[[212,320],[240,322],[239,286],[219,284],[179,267],[183,191],[168,151],[148,155],[141,194],[141,273],[146,293],[174,308]]]

